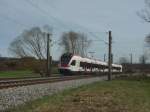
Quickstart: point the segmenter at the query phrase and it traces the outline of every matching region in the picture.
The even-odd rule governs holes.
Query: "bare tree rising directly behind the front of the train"
[[[64,52],[70,52],[85,56],[87,48],[90,45],[90,40],[83,33],[67,32],[61,37],[60,46],[63,46]]]

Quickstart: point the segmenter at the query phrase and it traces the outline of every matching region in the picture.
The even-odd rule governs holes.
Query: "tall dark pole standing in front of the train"
[[[109,47],[108,47],[108,81],[111,80],[112,75],[112,36],[111,31],[109,31]]]

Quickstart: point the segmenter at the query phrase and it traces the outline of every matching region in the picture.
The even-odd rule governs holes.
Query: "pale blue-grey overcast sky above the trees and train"
[[[0,0],[0,54],[12,56],[9,44],[23,32],[35,26],[53,28],[53,41],[63,31],[84,32],[95,40],[88,51],[103,60],[108,52],[108,31],[112,31],[114,61],[129,57],[137,62],[143,54],[144,38],[150,33],[150,24],[137,12],[145,7],[144,0]],[[52,47],[53,59],[59,59],[62,49]],[[88,54],[90,56],[90,54]]]

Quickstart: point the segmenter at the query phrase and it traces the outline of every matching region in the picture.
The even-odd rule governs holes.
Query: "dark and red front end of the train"
[[[60,57],[60,62],[58,65],[60,74],[69,75],[71,73],[69,63],[72,57],[73,57],[73,54],[71,53],[65,53]]]

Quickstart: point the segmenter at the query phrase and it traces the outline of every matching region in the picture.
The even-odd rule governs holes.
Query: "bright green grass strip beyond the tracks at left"
[[[21,71],[1,71],[0,78],[18,78],[18,77],[34,77],[39,76],[34,74],[32,71],[29,70],[21,70]]]

